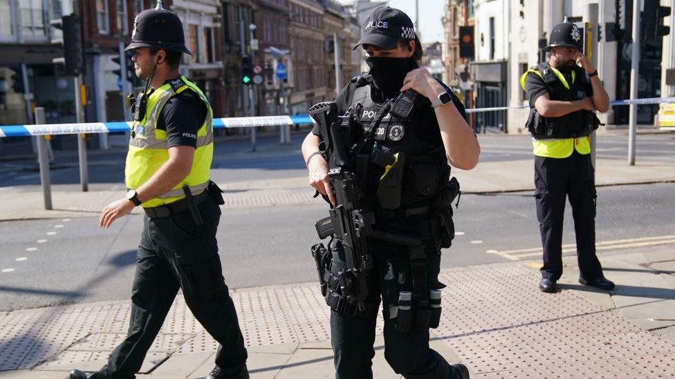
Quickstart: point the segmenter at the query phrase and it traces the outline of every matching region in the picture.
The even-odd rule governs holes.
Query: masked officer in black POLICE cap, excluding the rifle
[[[340,125],[346,128],[342,133],[355,136],[350,142],[360,142],[362,130],[369,128],[385,104],[391,104],[404,91],[414,90],[419,98],[418,112],[411,120],[387,114],[373,130],[372,143],[359,152],[376,149],[395,157],[387,167],[362,165],[367,167],[359,177],[364,182],[363,203],[366,211],[375,215],[376,229],[391,235],[413,235],[423,244],[410,246],[367,238],[372,268],[364,279],[367,298],[362,303],[350,295],[353,283],[343,275],[349,269],[344,246],[351,242],[335,238],[329,244],[326,251],[332,259],[327,259],[330,263],[325,273],[326,302],[331,306],[335,378],[373,377],[371,361],[380,299],[385,318],[385,358],[394,371],[405,378],[468,378],[464,365],[449,365],[429,348],[429,327],[437,326],[434,316],[429,318],[429,301],[440,302],[439,290],[445,286],[438,282],[441,246],[449,246],[454,236],[452,211],[448,211],[452,199],[444,198],[449,191],[448,161],[465,170],[473,168],[478,163],[479,144],[463,117],[461,101],[427,70],[419,68],[422,49],[407,14],[394,8],[377,8],[364,23],[362,39],[354,49],[358,46],[365,50],[370,70],[352,79],[335,100],[338,115],[353,120]],[[311,186],[340,208],[344,204],[336,200],[328,175],[331,157],[324,156],[323,151],[328,140],[329,136],[315,128],[304,139],[302,153]],[[373,155],[369,159],[374,159]],[[402,179],[397,184],[399,174]],[[434,207],[434,203],[441,204]],[[399,305],[403,307],[399,309]],[[439,311],[434,311],[436,322]],[[409,322],[398,322],[404,313]]]

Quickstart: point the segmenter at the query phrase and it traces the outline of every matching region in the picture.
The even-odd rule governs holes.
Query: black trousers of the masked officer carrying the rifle
[[[366,317],[351,317],[331,311],[331,344],[335,354],[336,379],[373,378],[373,344],[380,298],[383,308],[388,309],[390,305],[398,305],[399,291],[412,291],[409,248],[387,242],[370,242],[368,246],[369,253],[373,255],[374,267],[367,275],[367,302],[374,304],[374,307],[369,308],[375,311]],[[425,249],[427,286],[429,289],[442,289],[445,285],[438,282],[440,246],[430,243]],[[331,273],[337,275],[346,266],[341,242],[334,241],[331,252]],[[400,332],[395,326],[396,318],[390,320],[386,314],[385,359],[396,373],[415,379],[461,378],[441,354],[429,348],[429,329]]]

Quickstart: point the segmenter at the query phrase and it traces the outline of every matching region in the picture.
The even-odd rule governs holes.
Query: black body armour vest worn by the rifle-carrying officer
[[[372,88],[368,81],[356,81],[351,110],[358,112],[355,119],[360,122],[351,127],[359,132],[369,129],[373,117],[382,108],[382,104],[373,101]],[[372,130],[371,146],[366,146],[367,151],[360,152],[370,153],[371,162],[373,156],[381,151],[398,154],[393,165],[381,167],[371,163],[367,166],[362,182],[374,207],[396,209],[428,204],[438,197],[450,179],[450,166],[443,144],[431,144],[418,136],[416,126],[423,111],[419,108],[408,122],[397,119],[391,113],[385,115],[376,130]],[[358,141],[358,138],[352,138],[352,141]]]

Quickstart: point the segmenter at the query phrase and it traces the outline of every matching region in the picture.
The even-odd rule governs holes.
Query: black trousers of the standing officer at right
[[[575,150],[566,158],[535,157],[537,219],[544,245],[542,278],[558,280],[562,275],[562,225],[565,198],[574,217],[577,262],[583,278],[602,276],[595,255],[595,181],[591,155]]]

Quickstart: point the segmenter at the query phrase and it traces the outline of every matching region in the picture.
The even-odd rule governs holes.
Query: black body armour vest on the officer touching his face
[[[586,89],[590,86],[586,72],[575,66],[575,80],[565,88],[548,63],[540,63],[537,70],[544,77],[548,97],[551,100],[575,101],[588,97]],[[598,128],[600,121],[590,110],[577,110],[561,117],[542,117],[537,108],[530,108],[530,115],[526,127],[535,139],[564,139],[584,137]]]

